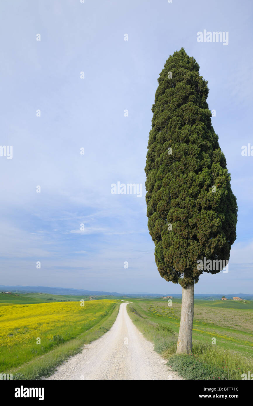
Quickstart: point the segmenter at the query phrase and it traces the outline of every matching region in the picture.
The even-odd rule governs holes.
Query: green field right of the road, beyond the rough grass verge
[[[192,339],[212,343],[214,337],[216,346],[253,357],[253,301],[229,302],[195,299]],[[148,320],[179,332],[181,300],[173,299],[172,307],[164,299],[134,300],[134,308]]]

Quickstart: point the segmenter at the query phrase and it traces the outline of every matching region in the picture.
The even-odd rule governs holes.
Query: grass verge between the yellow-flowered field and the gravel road
[[[119,312],[119,305],[115,306],[108,312],[108,314],[100,320],[95,326],[80,334],[80,336],[59,344],[52,351],[32,359],[29,363],[15,368],[9,373],[13,374],[13,379],[39,379],[42,376],[49,376],[54,372],[55,367],[62,364],[69,356],[78,354],[82,351],[84,344],[89,344],[101,337],[104,333],[110,330],[112,324],[115,322]]]

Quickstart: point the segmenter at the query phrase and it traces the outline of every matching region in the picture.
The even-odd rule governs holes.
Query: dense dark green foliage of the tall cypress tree
[[[148,227],[160,275],[186,287],[203,272],[198,259],[229,259],[237,205],[196,60],[175,52],[158,83],[145,167]]]

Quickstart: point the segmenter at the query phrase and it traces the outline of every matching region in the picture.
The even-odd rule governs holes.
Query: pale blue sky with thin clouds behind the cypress
[[[241,155],[253,145],[252,9],[231,0],[1,2],[1,145],[13,145],[12,159],[0,157],[2,285],[181,293],[156,268],[144,167],[157,78],[184,47],[208,80],[239,207],[229,272],[202,275],[195,292],[253,293],[253,156]],[[197,42],[204,29],[229,32],[228,45]],[[111,194],[117,181],[143,184],[143,196]]]

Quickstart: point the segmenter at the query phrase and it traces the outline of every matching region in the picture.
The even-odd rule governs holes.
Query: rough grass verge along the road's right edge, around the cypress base
[[[241,380],[242,374],[252,371],[251,361],[241,354],[199,341],[193,341],[191,354],[176,354],[177,334],[171,326],[148,320],[139,308],[135,309],[135,303],[127,310],[144,337],[154,343],[154,350],[184,379]]]

